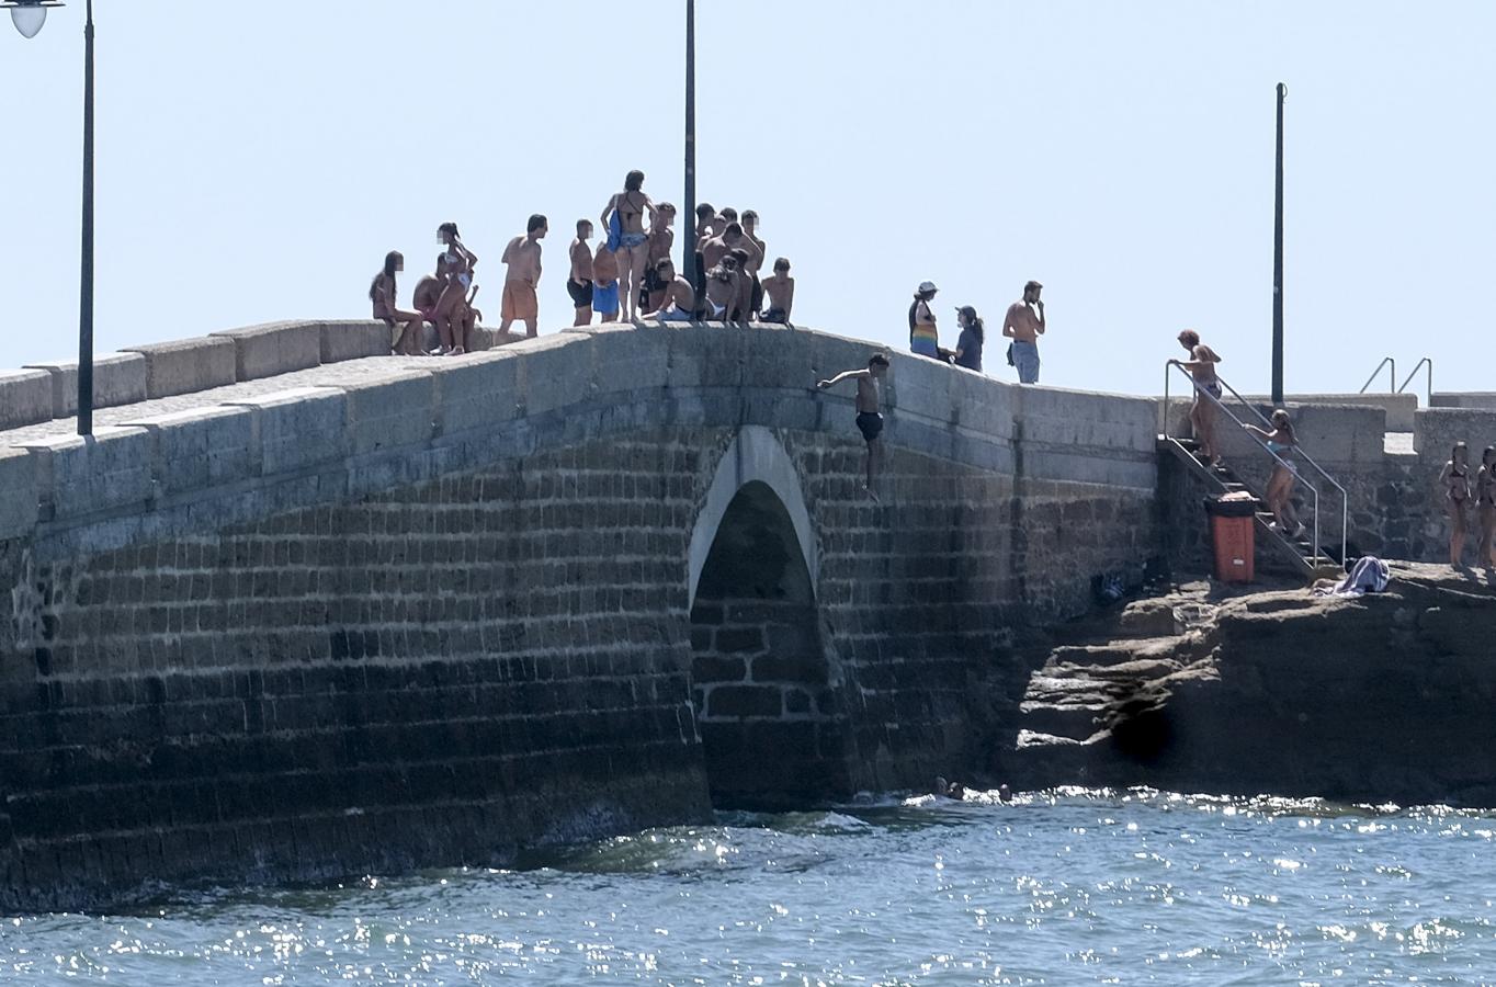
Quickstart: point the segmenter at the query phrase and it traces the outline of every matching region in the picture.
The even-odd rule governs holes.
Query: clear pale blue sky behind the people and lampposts
[[[456,220],[498,256],[545,212],[564,251],[624,172],[678,205],[684,0],[97,0],[97,350],[364,317]],[[907,345],[941,287],[996,338],[1044,281],[1046,383],[1156,393],[1197,328],[1266,389],[1273,85],[1288,82],[1290,390],[1384,354],[1496,390],[1496,4],[755,0],[699,4],[699,181],[755,208],[796,322]],[[0,366],[76,351],[82,0],[0,22]],[[989,372],[1010,377],[1001,344]]]

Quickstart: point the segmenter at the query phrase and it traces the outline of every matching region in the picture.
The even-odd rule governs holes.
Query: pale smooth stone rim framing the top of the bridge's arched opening
[[[767,486],[784,507],[794,529],[796,547],[805,559],[805,571],[811,577],[811,586],[817,585],[820,559],[815,552],[811,511],[805,507],[805,495],[800,492],[800,474],[794,470],[790,453],[784,450],[773,432],[761,425],[745,425],[717,462],[712,486],[706,491],[706,502],[702,505],[702,511],[696,517],[696,528],[691,531],[688,607],[696,606],[702,568],[717,541],[723,517],[727,516],[727,508],[733,504],[738,492],[749,483]]]

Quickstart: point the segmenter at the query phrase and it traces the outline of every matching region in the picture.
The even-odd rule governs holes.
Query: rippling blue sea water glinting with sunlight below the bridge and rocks
[[[114,984],[1496,983],[1496,815],[1134,790],[723,815],[524,861],[0,924]]]

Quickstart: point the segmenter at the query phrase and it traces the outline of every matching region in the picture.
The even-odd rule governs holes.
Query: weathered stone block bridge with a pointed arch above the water
[[[972,770],[1016,630],[1159,541],[1147,399],[893,354],[872,502],[851,387],[814,387],[868,342],[359,357],[381,332],[108,357],[87,440],[67,368],[0,375],[6,908],[497,864]]]

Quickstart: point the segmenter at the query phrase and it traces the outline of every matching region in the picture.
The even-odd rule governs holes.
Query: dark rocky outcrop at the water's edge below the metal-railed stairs
[[[1391,574],[1363,598],[1189,583],[1079,622],[1034,655],[993,770],[1014,788],[1496,806],[1496,574]]]

